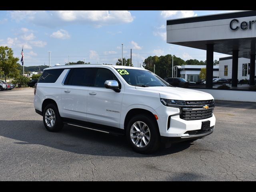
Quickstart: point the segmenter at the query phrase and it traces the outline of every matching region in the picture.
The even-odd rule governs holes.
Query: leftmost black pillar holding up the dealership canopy
[[[212,88],[213,44],[206,44],[206,88]]]

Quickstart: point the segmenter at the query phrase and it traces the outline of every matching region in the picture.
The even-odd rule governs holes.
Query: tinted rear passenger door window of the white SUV
[[[97,68],[73,68],[68,73],[64,85],[93,86]]]

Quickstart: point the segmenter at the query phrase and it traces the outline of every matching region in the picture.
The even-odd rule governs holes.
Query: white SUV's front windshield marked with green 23
[[[124,80],[133,86],[151,87],[151,86],[169,86],[156,74],[140,69],[116,69]]]

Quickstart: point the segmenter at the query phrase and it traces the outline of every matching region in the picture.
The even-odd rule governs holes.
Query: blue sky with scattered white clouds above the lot
[[[123,56],[138,66],[148,56],[174,54],[206,60],[206,51],[166,43],[166,20],[233,11],[0,11],[0,46],[25,66],[64,65],[78,60],[115,64]],[[227,55],[214,53],[214,59]],[[20,62],[19,62],[20,63]]]

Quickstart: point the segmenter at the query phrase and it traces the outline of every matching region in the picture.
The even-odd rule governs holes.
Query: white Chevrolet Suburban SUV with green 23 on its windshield
[[[136,67],[68,65],[44,69],[34,90],[48,131],[64,124],[125,135],[136,152],[196,140],[214,130],[214,98],[170,86]]]

